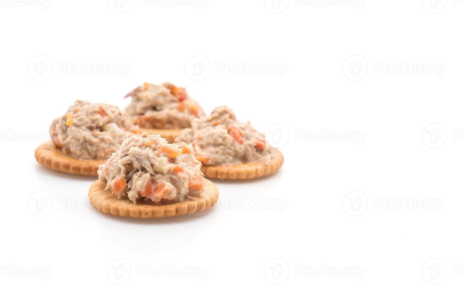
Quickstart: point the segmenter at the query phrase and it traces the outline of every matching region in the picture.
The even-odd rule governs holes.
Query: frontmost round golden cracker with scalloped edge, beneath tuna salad
[[[133,218],[161,218],[191,214],[211,208],[219,198],[216,185],[202,177],[205,182],[205,191],[194,200],[176,202],[170,204],[153,205],[145,202],[134,204],[127,197],[118,199],[110,189],[105,189],[106,184],[100,181],[94,182],[89,189],[90,203],[94,208],[105,214],[112,214]]]

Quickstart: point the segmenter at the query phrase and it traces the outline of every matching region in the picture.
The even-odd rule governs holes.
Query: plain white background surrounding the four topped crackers
[[[129,2],[0,0],[2,288],[463,284],[460,1]],[[274,134],[283,168],[217,182],[206,214],[134,220],[89,205],[94,177],[33,158],[76,99],[123,108],[163,81]]]

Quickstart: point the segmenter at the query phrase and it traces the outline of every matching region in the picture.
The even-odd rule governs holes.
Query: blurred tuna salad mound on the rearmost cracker
[[[126,95],[129,96],[132,101],[126,112],[142,128],[190,128],[194,118],[205,115],[200,105],[187,95],[185,88],[169,82],[161,85],[145,82]]]

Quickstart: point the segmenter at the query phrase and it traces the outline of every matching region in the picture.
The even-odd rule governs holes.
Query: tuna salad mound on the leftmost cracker
[[[138,126],[118,107],[77,100],[62,117],[53,120],[49,131],[63,154],[103,160],[138,132]]]

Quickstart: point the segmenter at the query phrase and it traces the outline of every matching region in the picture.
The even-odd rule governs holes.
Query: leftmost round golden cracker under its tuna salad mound
[[[35,150],[35,159],[53,170],[87,176],[98,176],[98,166],[106,160],[83,160],[63,154],[53,141],[48,141]]]

